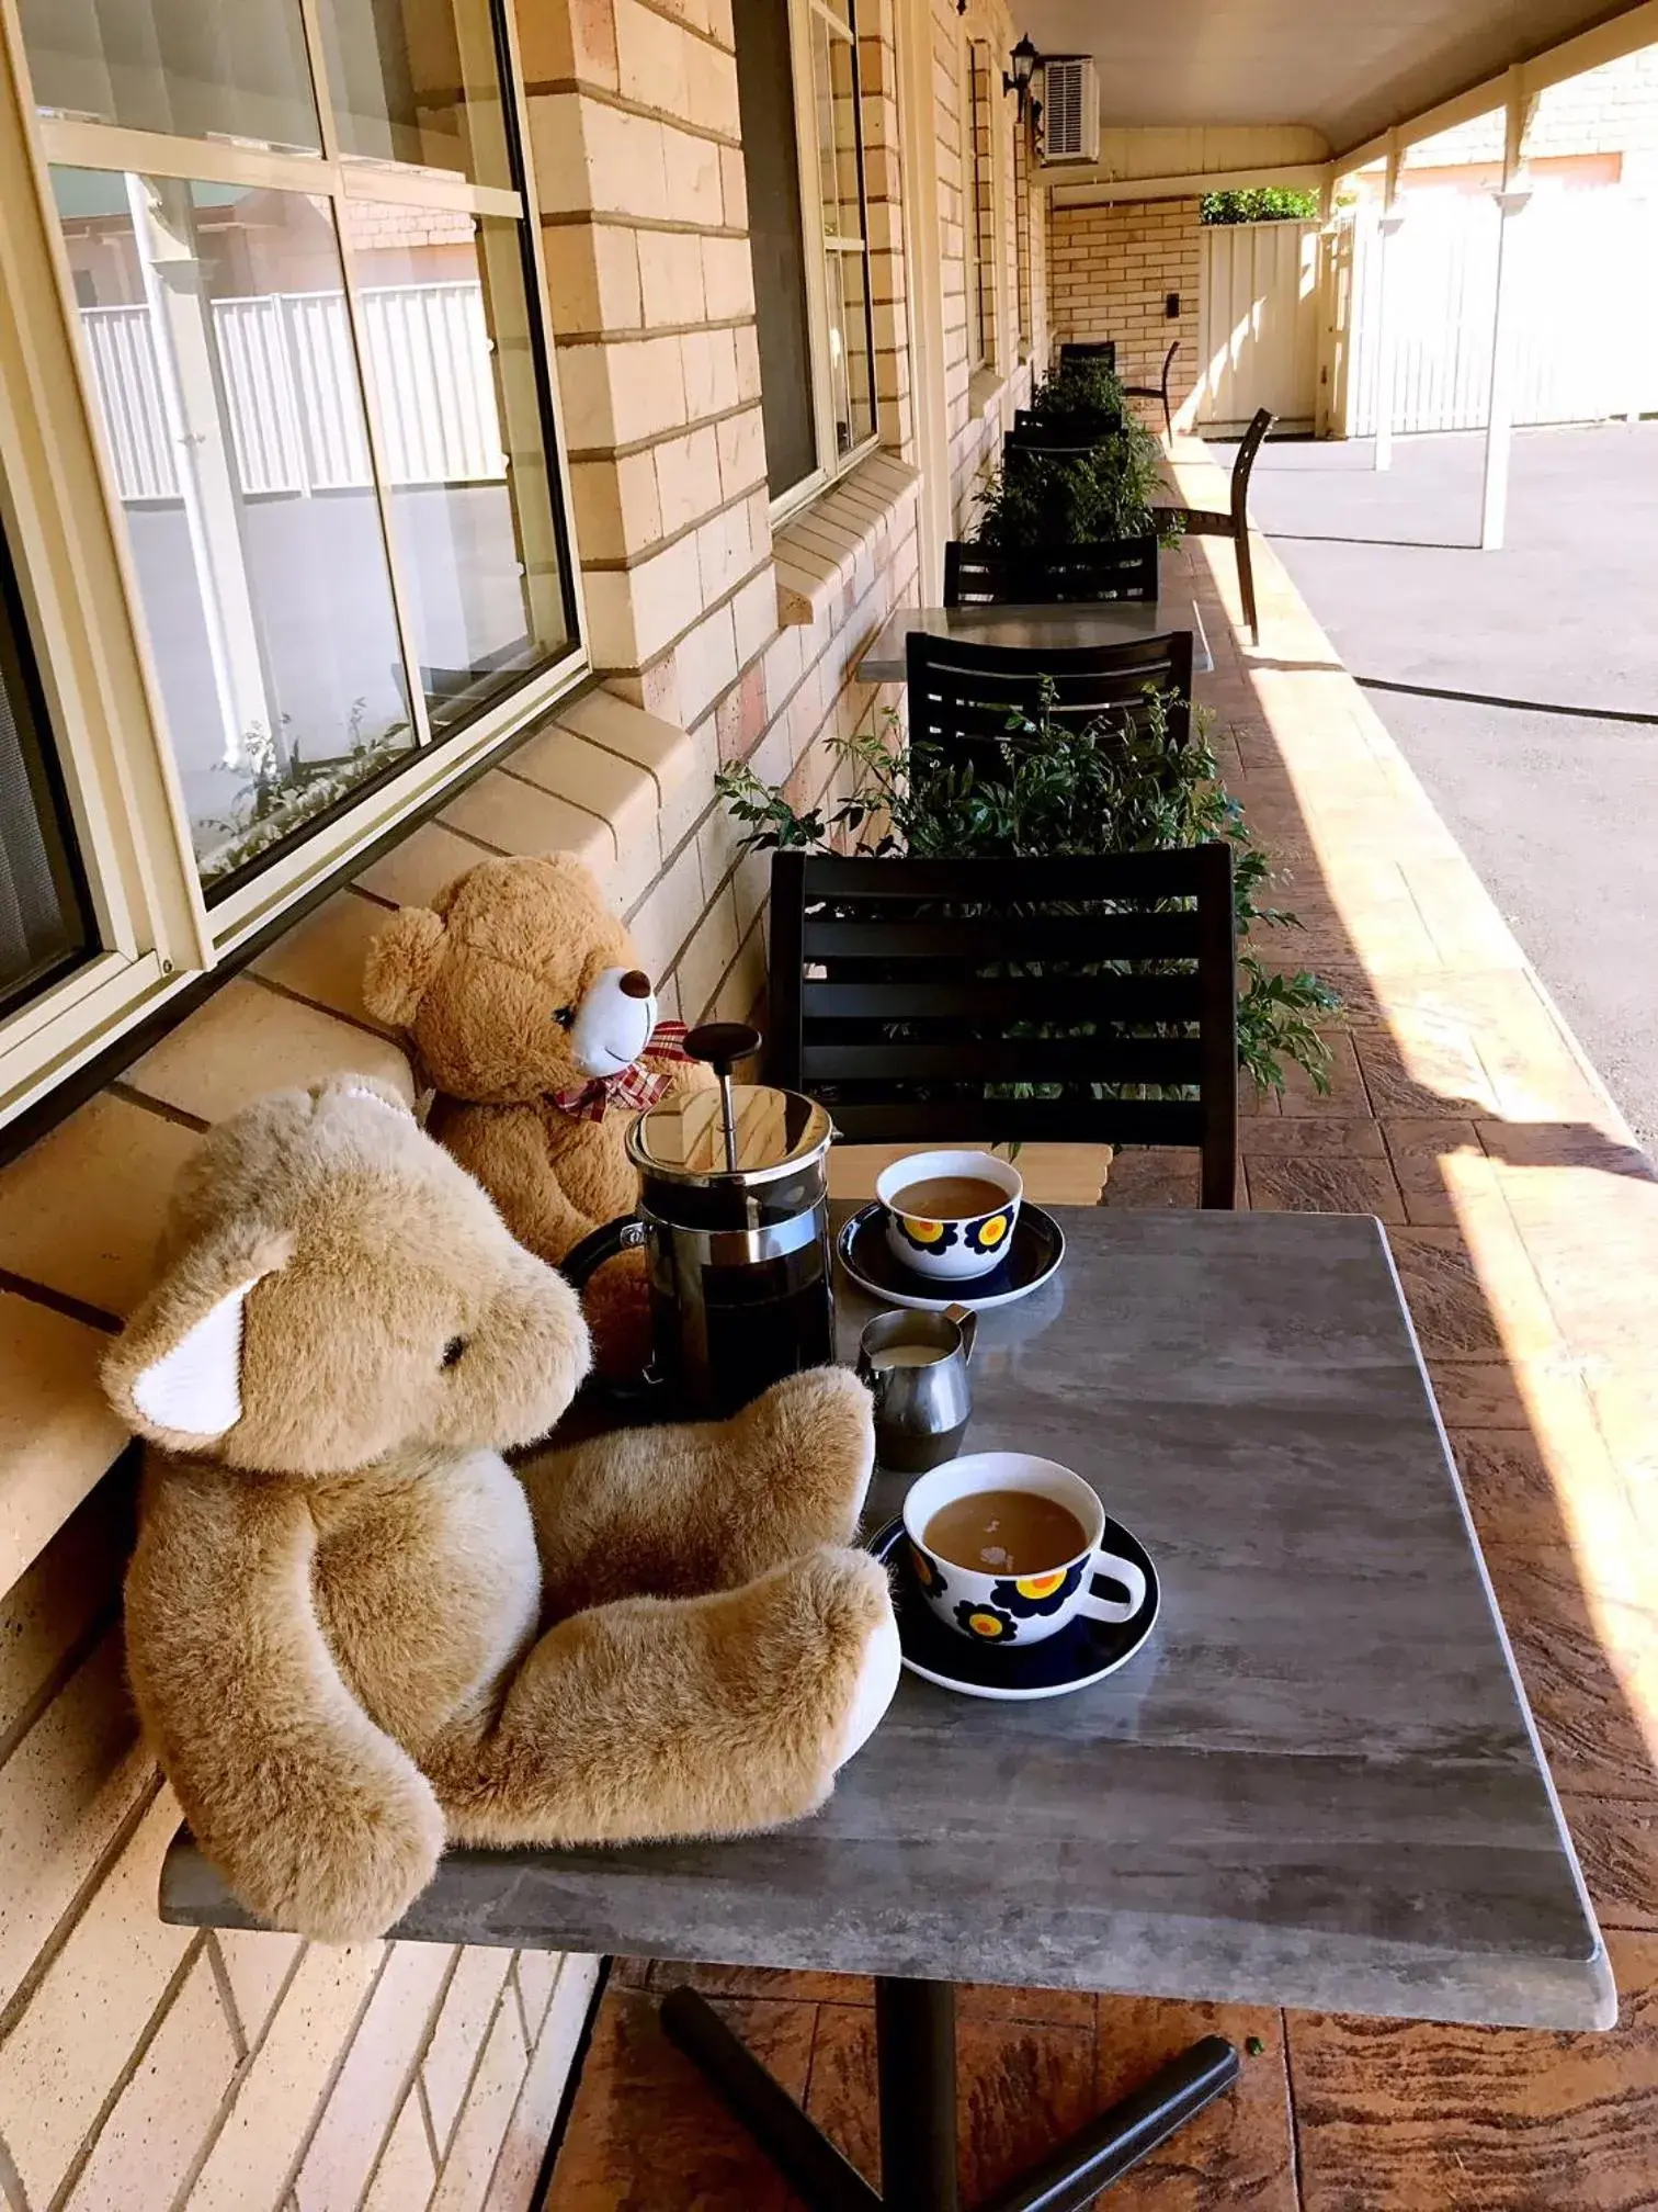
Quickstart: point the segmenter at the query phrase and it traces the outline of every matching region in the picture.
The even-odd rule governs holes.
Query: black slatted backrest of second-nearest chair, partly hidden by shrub
[[[1150,717],[1147,690],[1174,692],[1169,737],[1192,734],[1192,630],[1110,646],[995,646],[911,630],[906,650],[909,739],[1001,772],[1008,717],[1035,721],[1052,688],[1052,721],[1085,730],[1105,714]]]

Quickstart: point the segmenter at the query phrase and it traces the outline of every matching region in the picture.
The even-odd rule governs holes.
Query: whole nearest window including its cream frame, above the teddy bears
[[[86,969],[113,1037],[579,666],[493,0],[18,11],[0,1119],[53,1073],[18,991]]]

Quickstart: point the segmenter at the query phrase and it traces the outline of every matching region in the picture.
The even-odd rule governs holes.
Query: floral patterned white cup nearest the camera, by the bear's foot
[[[977,1491],[1035,1491],[1066,1506],[1083,1528],[1085,1546],[1041,1575],[984,1575],[957,1566],[926,1542],[935,1513]],[[1037,1460],[1028,1451],[973,1451],[933,1469],[911,1484],[904,1500],[904,1535],[915,1586],[933,1613],[975,1644],[1041,1644],[1079,1613],[1099,1621],[1132,1621],[1145,1604],[1145,1575],[1132,1559],[1101,1551],[1105,1509],[1068,1467]],[[1121,1597],[1101,1597],[1108,1582]]]

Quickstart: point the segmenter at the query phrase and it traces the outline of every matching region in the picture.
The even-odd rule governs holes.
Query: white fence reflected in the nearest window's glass
[[[360,292],[358,303],[391,482],[502,478],[506,458],[482,285],[378,285]],[[148,310],[82,307],[80,319],[122,498],[179,498]],[[245,493],[369,484],[340,292],[217,299],[212,334]]]

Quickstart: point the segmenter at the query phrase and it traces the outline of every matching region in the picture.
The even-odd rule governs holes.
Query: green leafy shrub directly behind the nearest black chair
[[[1242,807],[1220,783],[1203,714],[1180,741],[1169,728],[1167,699],[1150,692],[1145,717],[1105,717],[1088,730],[1012,717],[997,745],[995,772],[951,761],[942,748],[902,737],[895,714],[884,728],[831,739],[849,776],[849,796],[800,812],[783,785],[767,785],[747,765],[727,768],[718,792],[756,852],[858,852],[869,858],[904,852],[917,860],[1043,858],[1050,854],[1167,852],[1225,841],[1234,856],[1238,914],[1238,1064],[1260,1091],[1282,1093],[1284,1062],[1329,1091],[1329,1044],[1320,1022],[1340,1013],[1340,998],[1307,969],[1267,969],[1249,945],[1256,927],[1298,929],[1282,907],[1267,905],[1271,856],[1245,823]]]

